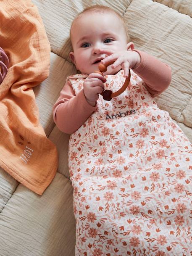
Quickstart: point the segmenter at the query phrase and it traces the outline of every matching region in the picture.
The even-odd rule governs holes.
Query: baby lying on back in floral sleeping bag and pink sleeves
[[[108,7],[80,13],[71,25],[71,43],[70,57],[81,74],[66,79],[53,117],[71,134],[76,256],[160,256],[168,255],[167,248],[182,255],[191,244],[190,235],[177,228],[187,230],[192,222],[184,214],[191,208],[184,199],[184,191],[191,191],[184,181],[191,175],[191,145],[153,100],[170,84],[171,68],[134,49],[123,18]],[[104,76],[95,73],[108,61],[115,62]],[[129,69],[127,89],[103,100],[104,88],[121,88]],[[177,244],[175,251],[170,242]]]

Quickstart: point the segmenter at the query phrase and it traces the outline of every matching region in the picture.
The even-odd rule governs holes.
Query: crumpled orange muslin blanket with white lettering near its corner
[[[0,166],[42,195],[55,176],[58,154],[39,122],[32,89],[49,75],[50,44],[30,0],[0,1],[0,47],[10,61],[0,84]]]

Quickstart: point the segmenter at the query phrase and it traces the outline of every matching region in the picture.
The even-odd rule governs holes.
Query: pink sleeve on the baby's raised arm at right
[[[148,53],[135,49],[132,51],[136,51],[141,57],[139,66],[132,70],[142,78],[146,89],[154,98],[166,90],[171,83],[171,67]]]

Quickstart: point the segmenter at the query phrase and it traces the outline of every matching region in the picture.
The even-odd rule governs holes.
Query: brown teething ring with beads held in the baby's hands
[[[99,64],[99,70],[100,71],[95,71],[95,73],[101,74],[103,76],[103,72],[107,71],[107,67],[111,64],[113,64],[115,61],[110,61],[108,63],[106,63],[105,65],[100,63]],[[126,77],[125,82],[123,84],[123,86],[116,92],[112,92],[111,90],[104,90],[103,92],[101,92],[101,95],[103,96],[104,100],[111,100],[114,97],[117,97],[118,95],[120,95],[122,92],[124,92],[124,90],[127,88],[127,86],[129,85],[130,82],[130,78],[131,78],[131,72],[129,69],[129,76]]]

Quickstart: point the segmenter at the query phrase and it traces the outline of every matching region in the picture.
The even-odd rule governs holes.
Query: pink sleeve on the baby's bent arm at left
[[[53,119],[60,131],[75,132],[97,108],[87,102],[84,91],[75,95],[70,81],[66,82],[53,106]]]

